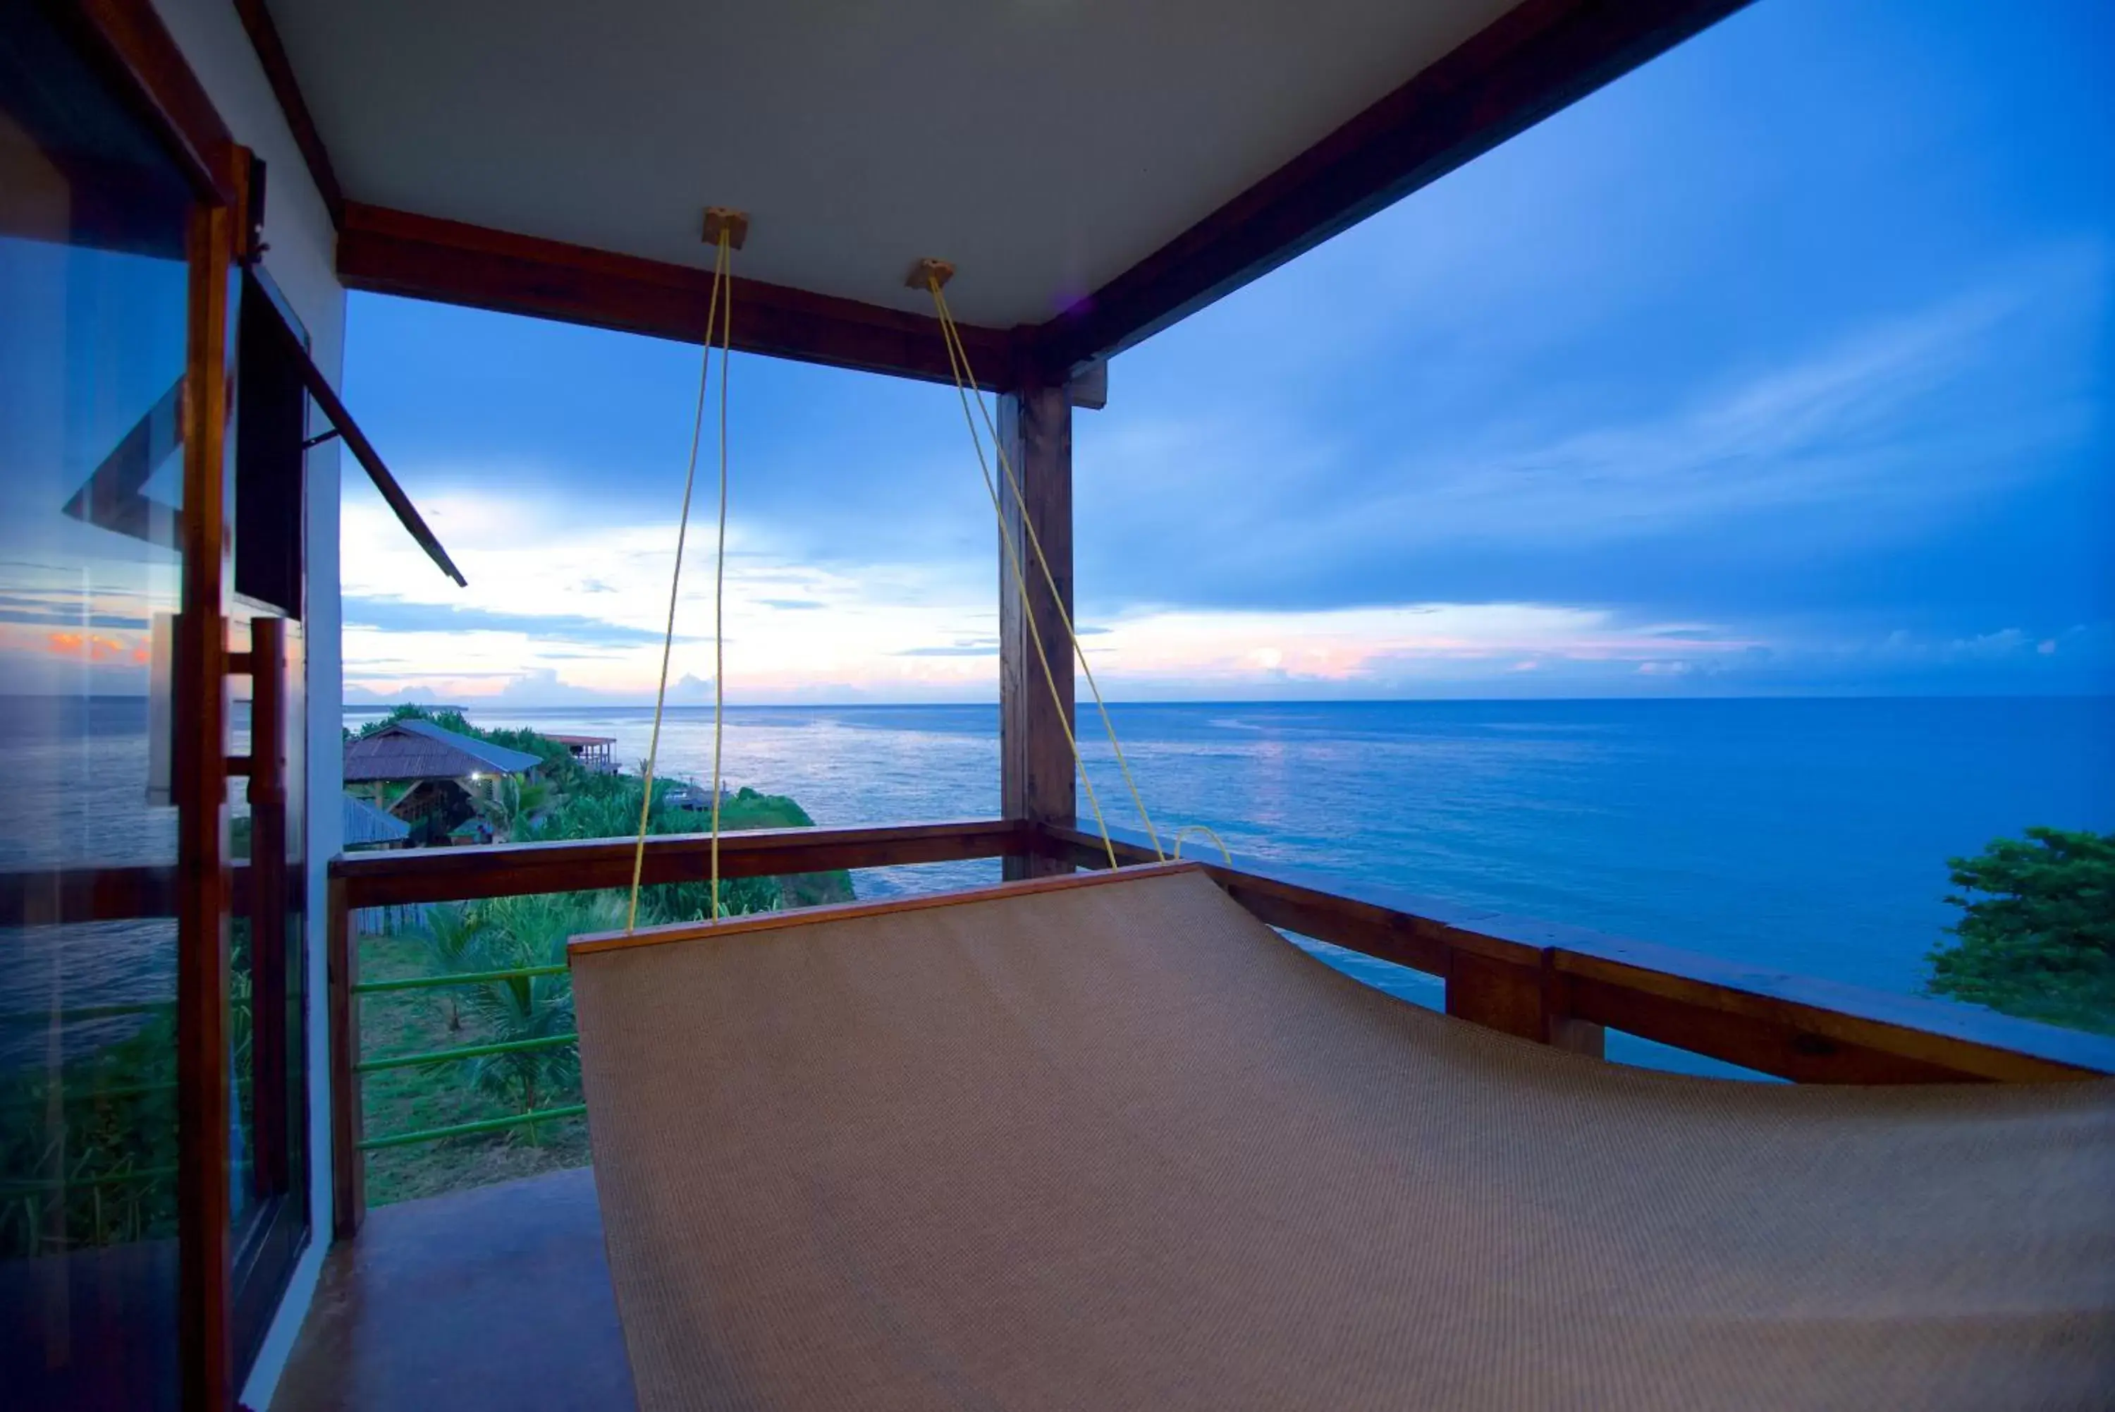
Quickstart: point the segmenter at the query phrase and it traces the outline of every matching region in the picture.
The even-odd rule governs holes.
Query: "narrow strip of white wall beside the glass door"
[[[311,356],[341,385],[345,358],[345,288],[336,277],[336,231],[294,133],[279,112],[264,68],[235,15],[233,0],[154,0],[163,23],[205,85],[235,140],[264,159],[264,271],[307,324]],[[330,1029],[324,965],[324,859],[338,851],[343,760],[338,718],[338,442],[309,453],[307,485],[307,652],[309,652],[309,1249],[279,1304],[264,1346],[243,1387],[243,1401],[269,1408],[279,1370],[309,1313],[324,1249],[330,1245]]]

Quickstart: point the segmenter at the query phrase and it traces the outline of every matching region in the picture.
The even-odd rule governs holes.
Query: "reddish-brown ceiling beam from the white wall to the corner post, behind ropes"
[[[713,273],[459,220],[345,203],[338,279],[351,290],[431,298],[499,313],[704,341]],[[1009,330],[960,326],[977,379],[1015,377]],[[950,381],[939,322],[852,298],[734,279],[734,347],[861,373]]]

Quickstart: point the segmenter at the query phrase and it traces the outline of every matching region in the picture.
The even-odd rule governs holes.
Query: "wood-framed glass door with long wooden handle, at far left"
[[[311,1234],[300,339],[76,40],[0,4],[0,1401],[226,1406]]]

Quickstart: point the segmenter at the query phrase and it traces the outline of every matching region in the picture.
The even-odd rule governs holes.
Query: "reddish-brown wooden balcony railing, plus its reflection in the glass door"
[[[647,840],[643,881],[692,883],[709,838]],[[1106,866],[1098,834],[1005,819],[728,834],[721,874],[1041,857]],[[1123,864],[1151,862],[1119,834]],[[1258,919],[1438,976],[1447,1012],[1540,1044],[1599,1054],[1603,1033],[1656,1039],[1802,1084],[2049,1082],[2115,1073],[2115,1039],[1887,995],[1576,927],[1478,912],[1373,887],[1294,876],[1248,859],[1199,859]],[[336,857],[328,879],[328,1003],[334,1226],[357,1230],[362,1196],[357,936],[362,908],[628,887],[628,840],[419,849]],[[78,879],[0,876],[0,925],[167,915],[161,870]]]

